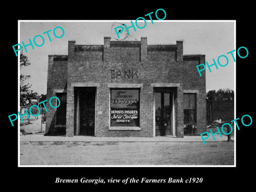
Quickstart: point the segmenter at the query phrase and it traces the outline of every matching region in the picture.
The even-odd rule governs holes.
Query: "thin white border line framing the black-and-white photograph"
[[[18,20],[18,43],[20,43],[20,22],[130,22],[135,20]],[[150,21],[150,20],[146,20]],[[234,49],[236,50],[236,20],[153,20],[154,22],[234,22]],[[142,21],[139,21],[142,22]],[[236,59],[236,54],[234,55]],[[236,118],[236,62],[234,62],[234,119]],[[20,51],[18,51],[18,69]],[[18,70],[18,103],[20,103],[20,70]],[[19,111],[18,105],[18,111]],[[234,124],[234,165],[20,165],[20,118],[18,120],[18,167],[236,167],[236,125]]]

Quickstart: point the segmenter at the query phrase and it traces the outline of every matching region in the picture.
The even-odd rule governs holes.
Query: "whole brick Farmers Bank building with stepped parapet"
[[[68,41],[68,55],[49,55],[47,100],[57,96],[61,105],[46,106],[46,133],[62,129],[67,137],[183,137],[188,123],[204,132],[205,72],[198,75],[200,63],[205,55],[183,55],[183,41]],[[56,102],[52,99],[52,105]]]

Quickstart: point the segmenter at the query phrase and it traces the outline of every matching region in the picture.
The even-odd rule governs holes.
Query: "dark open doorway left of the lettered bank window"
[[[77,87],[76,135],[95,135],[96,87]]]

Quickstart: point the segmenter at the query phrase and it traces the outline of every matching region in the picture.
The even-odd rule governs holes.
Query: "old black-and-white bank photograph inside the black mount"
[[[145,19],[19,21],[19,166],[236,166],[235,20]]]

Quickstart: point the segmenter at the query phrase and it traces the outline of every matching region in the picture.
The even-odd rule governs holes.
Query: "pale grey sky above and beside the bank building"
[[[23,67],[20,74],[31,75],[27,83],[32,84],[31,90],[40,94],[46,94],[47,85],[47,65],[49,54],[68,54],[68,41],[75,40],[76,44],[98,44],[103,45],[104,36],[113,36],[111,26],[113,22],[124,22],[127,26],[131,25],[130,20],[111,20],[111,21],[26,21],[19,22],[18,31],[19,44],[24,42],[29,44],[29,38],[33,42],[36,35],[44,37],[44,44],[40,47],[34,45],[27,46],[27,52],[22,50],[31,63],[30,66]],[[133,21],[134,22],[134,21]],[[143,21],[142,21],[143,22]],[[143,26],[144,23],[139,23]],[[55,27],[62,27],[65,34],[62,38],[53,35]],[[213,59],[217,62],[220,55],[226,55],[229,63],[225,67],[218,66],[218,70],[213,66],[212,72],[206,67],[206,91],[226,89],[234,90],[234,60],[228,52],[235,50],[235,22],[234,21],[172,21],[154,20],[151,23],[147,20],[147,25],[143,29],[130,28],[130,35],[140,41],[140,37],[146,36],[148,44],[176,44],[177,40],[183,39],[183,54],[205,54],[205,61],[209,65]],[[45,31],[51,30],[49,41]],[[60,29],[56,30],[57,36],[61,36]],[[40,37],[36,38],[37,44],[42,44]],[[34,43],[33,43],[34,44]],[[13,52],[15,55],[15,53]],[[222,65],[226,64],[226,59],[220,59]],[[204,63],[205,64],[205,63]],[[19,66],[18,66],[19,67]],[[198,74],[199,75],[199,74]]]

